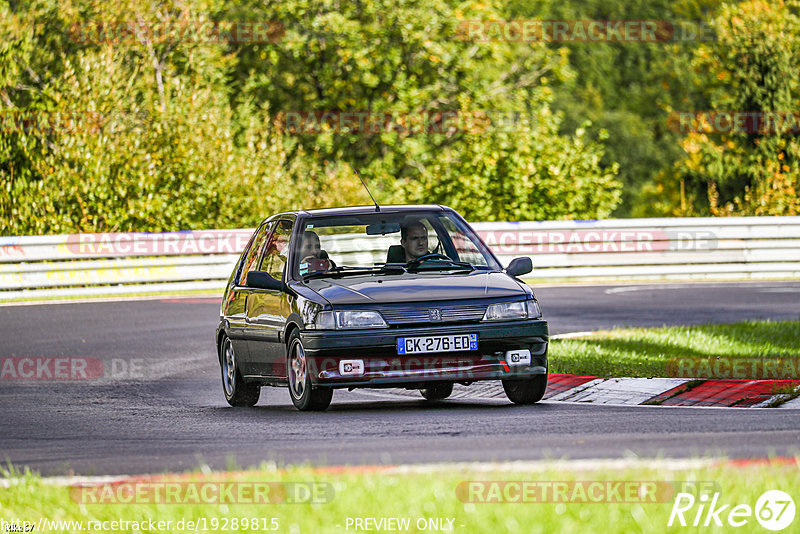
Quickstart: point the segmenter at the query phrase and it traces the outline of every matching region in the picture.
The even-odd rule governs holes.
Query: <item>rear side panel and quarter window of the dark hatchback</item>
[[[264,251],[267,236],[275,225],[275,221],[262,224],[253,234],[248,244],[247,252],[242,259],[238,272],[234,275],[233,287],[228,292],[225,304],[225,319],[228,321],[228,335],[236,353],[239,371],[249,374],[249,348],[247,346],[247,297],[252,292],[246,287],[247,273],[256,269],[256,262]]]

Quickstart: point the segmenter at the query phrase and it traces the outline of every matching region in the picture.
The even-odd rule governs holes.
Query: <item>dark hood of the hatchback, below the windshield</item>
[[[333,305],[522,297],[527,294],[507,274],[486,271],[350,276],[309,280],[306,286]]]

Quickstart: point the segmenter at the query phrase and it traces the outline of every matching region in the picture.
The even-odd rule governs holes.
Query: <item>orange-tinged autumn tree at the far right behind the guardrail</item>
[[[800,214],[799,15],[797,2],[725,6],[718,41],[695,55],[712,110],[780,117],[722,131],[701,117],[683,139],[683,176],[715,215]]]

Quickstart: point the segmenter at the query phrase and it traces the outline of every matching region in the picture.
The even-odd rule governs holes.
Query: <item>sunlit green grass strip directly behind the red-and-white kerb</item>
[[[669,376],[676,358],[800,358],[800,321],[621,328],[550,343],[550,372]],[[794,376],[793,378],[800,378]]]

